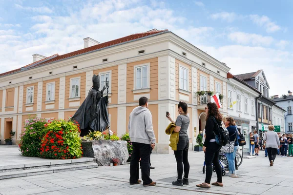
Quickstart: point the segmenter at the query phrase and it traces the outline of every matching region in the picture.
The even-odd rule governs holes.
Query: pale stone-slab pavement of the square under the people
[[[2,154],[3,157],[3,154]],[[20,156],[21,157],[21,156]],[[4,158],[0,158],[3,163]],[[5,160],[5,159],[4,159]],[[292,195],[291,166],[293,157],[277,157],[273,167],[261,151],[260,156],[243,159],[237,174],[239,178],[224,176],[224,187],[198,189],[203,182],[204,154],[189,152],[191,183],[183,187],[172,186],[176,176],[174,155],[151,155],[151,178],[157,186],[129,185],[129,164],[113,167],[68,171],[38,176],[0,180],[0,195]],[[213,173],[212,182],[216,181]]]

